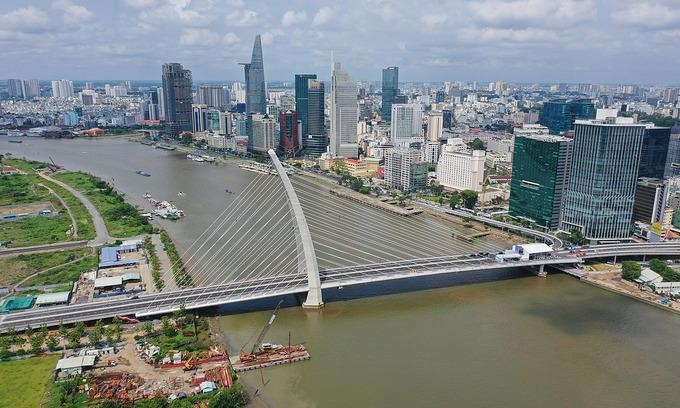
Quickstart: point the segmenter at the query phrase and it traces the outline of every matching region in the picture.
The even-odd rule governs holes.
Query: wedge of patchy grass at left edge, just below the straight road
[[[26,276],[32,275],[43,269],[62,265],[66,262],[91,254],[91,249],[82,248],[0,258],[0,271],[2,271],[0,273],[0,286],[16,283]]]

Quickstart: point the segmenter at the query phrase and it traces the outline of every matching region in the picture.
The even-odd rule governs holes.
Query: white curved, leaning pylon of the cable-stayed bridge
[[[319,265],[316,261],[316,253],[314,252],[314,243],[312,242],[312,235],[309,233],[309,226],[307,225],[307,220],[305,219],[305,214],[302,212],[302,206],[300,205],[300,200],[295,194],[295,189],[290,183],[288,174],[283,168],[283,165],[276,156],[276,152],[270,149],[269,157],[272,159],[272,163],[276,168],[276,172],[281,177],[281,182],[283,182],[283,187],[286,190],[286,195],[288,196],[288,204],[290,205],[293,215],[295,216],[295,227],[297,229],[297,236],[302,244],[302,258],[298,262],[298,269],[302,272],[302,269],[307,271],[307,284],[309,289],[307,291],[307,300],[304,301],[302,307],[310,309],[318,309],[323,307],[323,299],[321,297],[321,279],[319,278]],[[299,249],[298,249],[299,250]],[[300,254],[298,254],[300,256]]]

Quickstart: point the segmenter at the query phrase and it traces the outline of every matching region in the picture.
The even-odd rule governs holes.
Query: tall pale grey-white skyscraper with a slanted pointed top
[[[331,75],[330,113],[330,153],[335,157],[356,159],[359,156],[357,84],[341,69],[339,62],[334,64]]]

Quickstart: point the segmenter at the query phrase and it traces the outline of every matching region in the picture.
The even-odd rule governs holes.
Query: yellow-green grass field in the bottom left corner
[[[45,386],[59,355],[0,362],[0,401],[2,406],[35,408],[40,406]]]

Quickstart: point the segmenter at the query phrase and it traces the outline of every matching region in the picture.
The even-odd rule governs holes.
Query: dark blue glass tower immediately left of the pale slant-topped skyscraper
[[[324,114],[325,89],[321,81],[310,79],[307,89],[307,135],[302,134],[302,147],[311,156],[326,151],[326,118]]]

